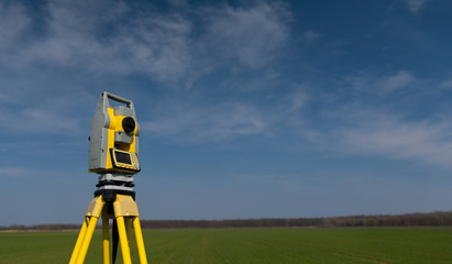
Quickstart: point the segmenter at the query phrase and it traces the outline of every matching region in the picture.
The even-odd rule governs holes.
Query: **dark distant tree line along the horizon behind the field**
[[[141,220],[143,229],[221,228],[343,228],[343,227],[452,227],[452,211],[330,218],[262,218],[234,220]],[[0,231],[78,230],[80,224],[0,227]],[[98,227],[99,228],[99,227]]]

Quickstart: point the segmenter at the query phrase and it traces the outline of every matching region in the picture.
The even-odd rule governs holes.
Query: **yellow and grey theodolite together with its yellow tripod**
[[[112,108],[109,101],[124,106]],[[131,100],[102,92],[91,120],[88,172],[99,174],[95,199],[88,206],[69,264],[82,264],[97,221],[102,217],[103,264],[115,262],[118,242],[124,264],[131,264],[130,240],[135,231],[140,263],[147,263],[139,209],[133,190],[133,175],[141,170],[139,163],[140,125]],[[112,223],[112,256],[110,256],[109,219]]]

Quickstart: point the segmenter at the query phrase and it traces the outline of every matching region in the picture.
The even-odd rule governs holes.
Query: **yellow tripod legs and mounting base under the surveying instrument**
[[[100,217],[102,217],[103,264],[110,264],[109,219],[113,219],[113,264],[117,256],[118,239],[121,244],[123,263],[132,263],[130,254],[132,224],[135,231],[140,263],[147,264],[139,219],[139,208],[134,200],[135,191],[133,191],[132,183],[132,177],[124,178],[124,176],[112,176],[111,174],[99,177],[99,184],[97,186],[100,188],[95,191],[96,198],[89,202],[69,264],[82,264],[85,262],[92,234]],[[125,187],[120,186],[121,184],[125,184]]]

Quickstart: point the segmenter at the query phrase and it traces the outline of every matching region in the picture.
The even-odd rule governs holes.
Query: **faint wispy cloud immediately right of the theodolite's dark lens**
[[[257,108],[240,102],[194,107],[166,103],[153,121],[141,123],[143,130],[179,141],[221,141],[240,135],[267,134],[272,118]]]

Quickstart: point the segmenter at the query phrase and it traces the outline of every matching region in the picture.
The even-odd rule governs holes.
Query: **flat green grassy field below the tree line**
[[[77,233],[0,233],[0,263],[68,263]],[[143,235],[150,264],[452,263],[450,228],[144,230]],[[102,263],[101,254],[96,232],[85,263]],[[139,263],[135,249],[132,254]]]

